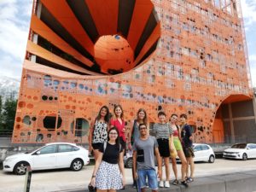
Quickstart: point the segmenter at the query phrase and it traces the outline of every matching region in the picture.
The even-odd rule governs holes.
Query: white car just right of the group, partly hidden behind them
[[[204,143],[194,143],[194,154],[195,158],[194,161],[207,161],[209,163],[214,163],[215,161],[215,154],[212,150],[212,147],[210,145],[204,144]],[[178,162],[180,161],[177,157],[176,159]]]

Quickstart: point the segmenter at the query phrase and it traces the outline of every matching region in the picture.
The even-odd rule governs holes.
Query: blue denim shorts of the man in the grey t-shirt
[[[143,169],[137,171],[138,187],[140,189],[146,188],[146,178],[148,177],[148,187],[157,190],[158,182],[157,175],[154,169]]]

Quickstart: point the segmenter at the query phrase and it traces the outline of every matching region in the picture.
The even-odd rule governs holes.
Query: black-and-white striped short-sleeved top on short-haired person
[[[168,123],[166,123],[166,124],[159,124],[159,123],[154,124],[153,131],[154,131],[155,137],[157,139],[159,139],[159,138],[168,139],[170,137],[170,135],[173,133],[172,127]]]

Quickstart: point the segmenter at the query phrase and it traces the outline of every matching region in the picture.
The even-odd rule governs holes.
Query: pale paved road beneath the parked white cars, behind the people
[[[180,165],[178,165],[178,169],[180,169]],[[256,172],[256,160],[242,161],[217,159],[213,164],[196,163],[195,177],[252,170],[255,170]],[[49,192],[84,189],[90,182],[92,171],[93,166],[84,166],[83,170],[80,172],[72,172],[69,170],[33,172],[31,191]],[[125,177],[126,183],[131,184],[131,169],[125,169]],[[173,179],[173,172],[171,173],[171,178]],[[21,192],[23,191],[24,183],[25,176],[16,176],[12,173],[5,173],[2,170],[0,171],[1,192]]]

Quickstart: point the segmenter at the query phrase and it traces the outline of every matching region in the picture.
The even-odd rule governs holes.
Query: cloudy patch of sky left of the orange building
[[[0,9],[0,74],[20,78],[32,0],[1,0]]]

